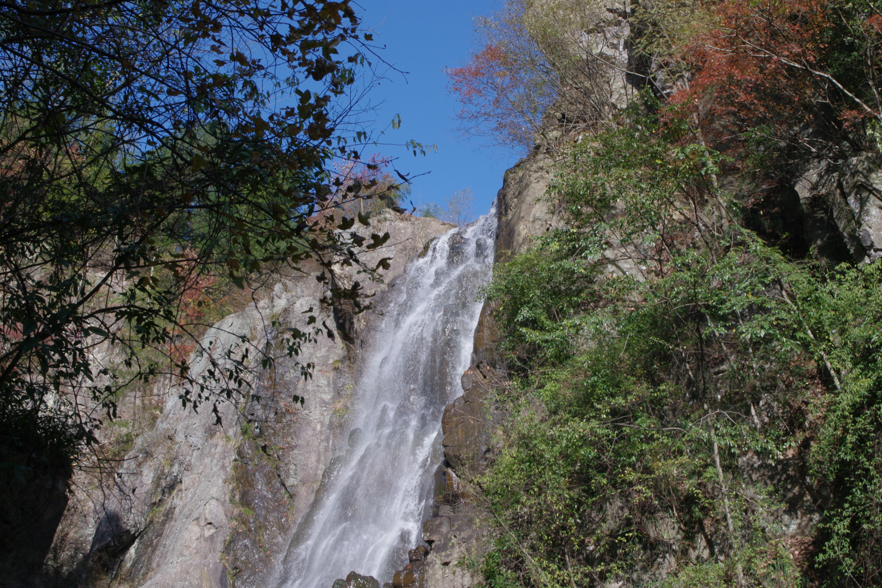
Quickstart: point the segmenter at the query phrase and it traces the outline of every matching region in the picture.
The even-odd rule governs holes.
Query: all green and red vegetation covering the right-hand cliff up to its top
[[[551,6],[564,22],[570,4]],[[460,88],[485,87],[491,56],[550,68],[530,82],[547,88],[546,47],[566,43],[543,35],[566,27],[531,7],[509,4]],[[524,100],[569,125],[549,152],[563,226],[487,290],[515,375],[502,449],[472,480],[488,586],[882,584],[882,262],[816,257],[774,220],[800,166],[878,156],[880,9],[625,4],[634,61],[655,68],[634,66],[639,100],[590,116],[567,110],[571,86]],[[491,138],[548,134],[487,97],[463,93],[464,116],[496,116]]]

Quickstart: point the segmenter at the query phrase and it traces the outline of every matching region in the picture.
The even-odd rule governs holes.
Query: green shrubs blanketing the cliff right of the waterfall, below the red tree
[[[732,224],[687,136],[635,119],[576,145],[551,184],[566,227],[497,265],[518,377],[475,480],[488,585],[878,583],[882,263],[825,271]],[[809,555],[788,483],[823,510]]]

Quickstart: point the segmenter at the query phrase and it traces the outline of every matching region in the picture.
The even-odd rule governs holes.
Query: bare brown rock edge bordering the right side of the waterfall
[[[531,237],[557,225],[557,215],[544,198],[551,164],[548,156],[534,153],[505,172],[497,194],[497,263],[527,249]],[[462,478],[482,472],[504,434],[498,429],[503,415],[492,398],[492,392],[507,383],[498,342],[497,326],[485,304],[475,328],[473,365],[462,375],[463,395],[445,408],[445,459],[436,473],[433,517],[423,525],[422,538],[430,552],[410,585],[467,588],[481,584],[469,563],[477,561],[486,547],[490,513],[482,509]]]

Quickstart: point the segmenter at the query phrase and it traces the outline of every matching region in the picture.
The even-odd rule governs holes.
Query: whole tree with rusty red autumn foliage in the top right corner
[[[672,97],[708,138],[757,147],[766,165],[878,152],[878,2],[730,0],[681,48],[691,83]]]

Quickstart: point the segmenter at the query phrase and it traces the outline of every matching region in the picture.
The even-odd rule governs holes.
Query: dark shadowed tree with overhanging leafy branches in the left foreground
[[[375,275],[358,254],[388,235],[365,245],[335,206],[376,184],[335,193],[326,171],[334,156],[358,160],[365,138],[339,100],[362,39],[348,0],[0,6],[4,463],[70,460],[101,413],[115,416],[120,391],[161,374],[184,406],[247,398],[247,357],[221,350],[223,369],[195,375],[189,354],[168,351],[182,335],[198,346],[194,287],[314,267],[329,303],[363,308],[334,267]],[[317,327],[282,349],[333,336]],[[130,376],[96,362],[108,348]]]

